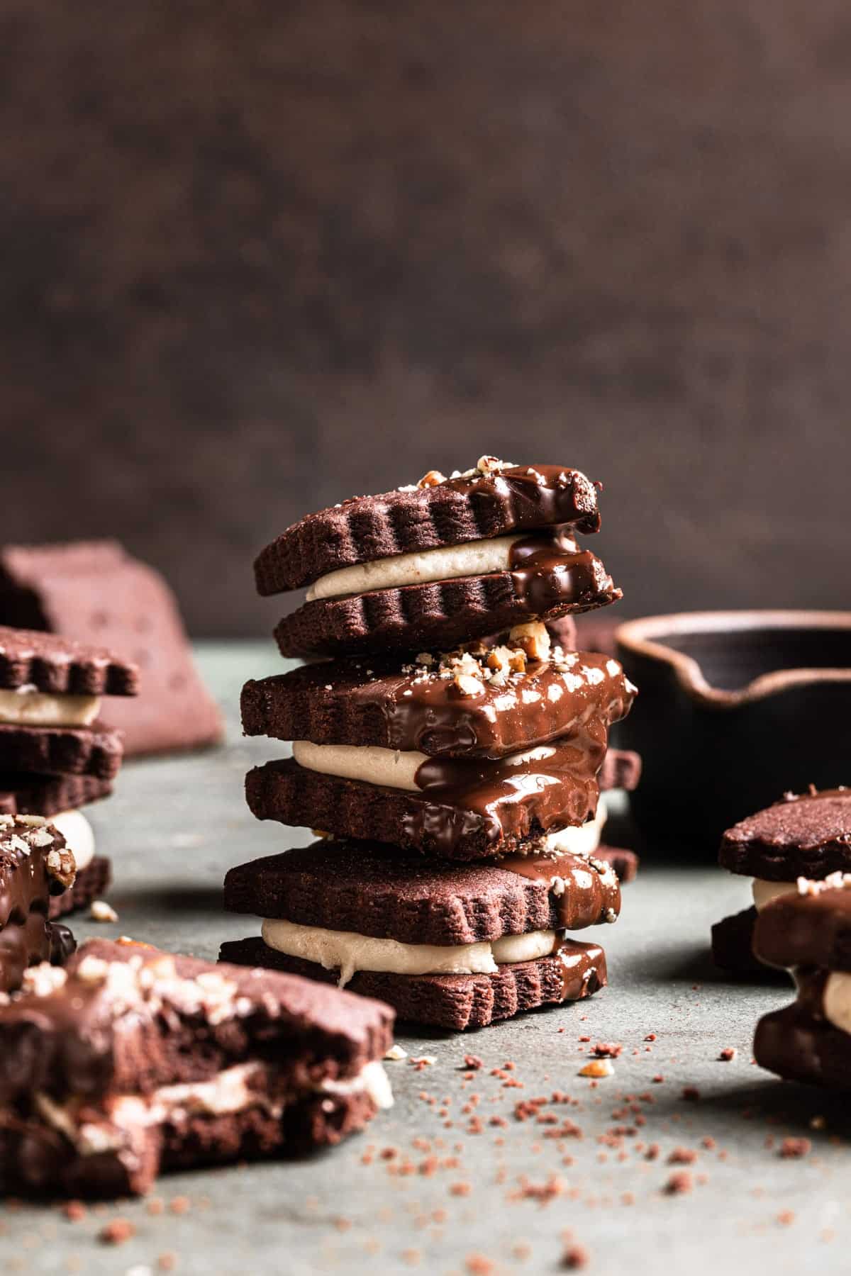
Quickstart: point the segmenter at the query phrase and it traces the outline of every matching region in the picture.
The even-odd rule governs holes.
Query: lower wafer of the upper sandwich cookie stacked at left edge
[[[0,771],[115,780],[122,755],[121,732],[100,722],[91,727],[0,722]]]

